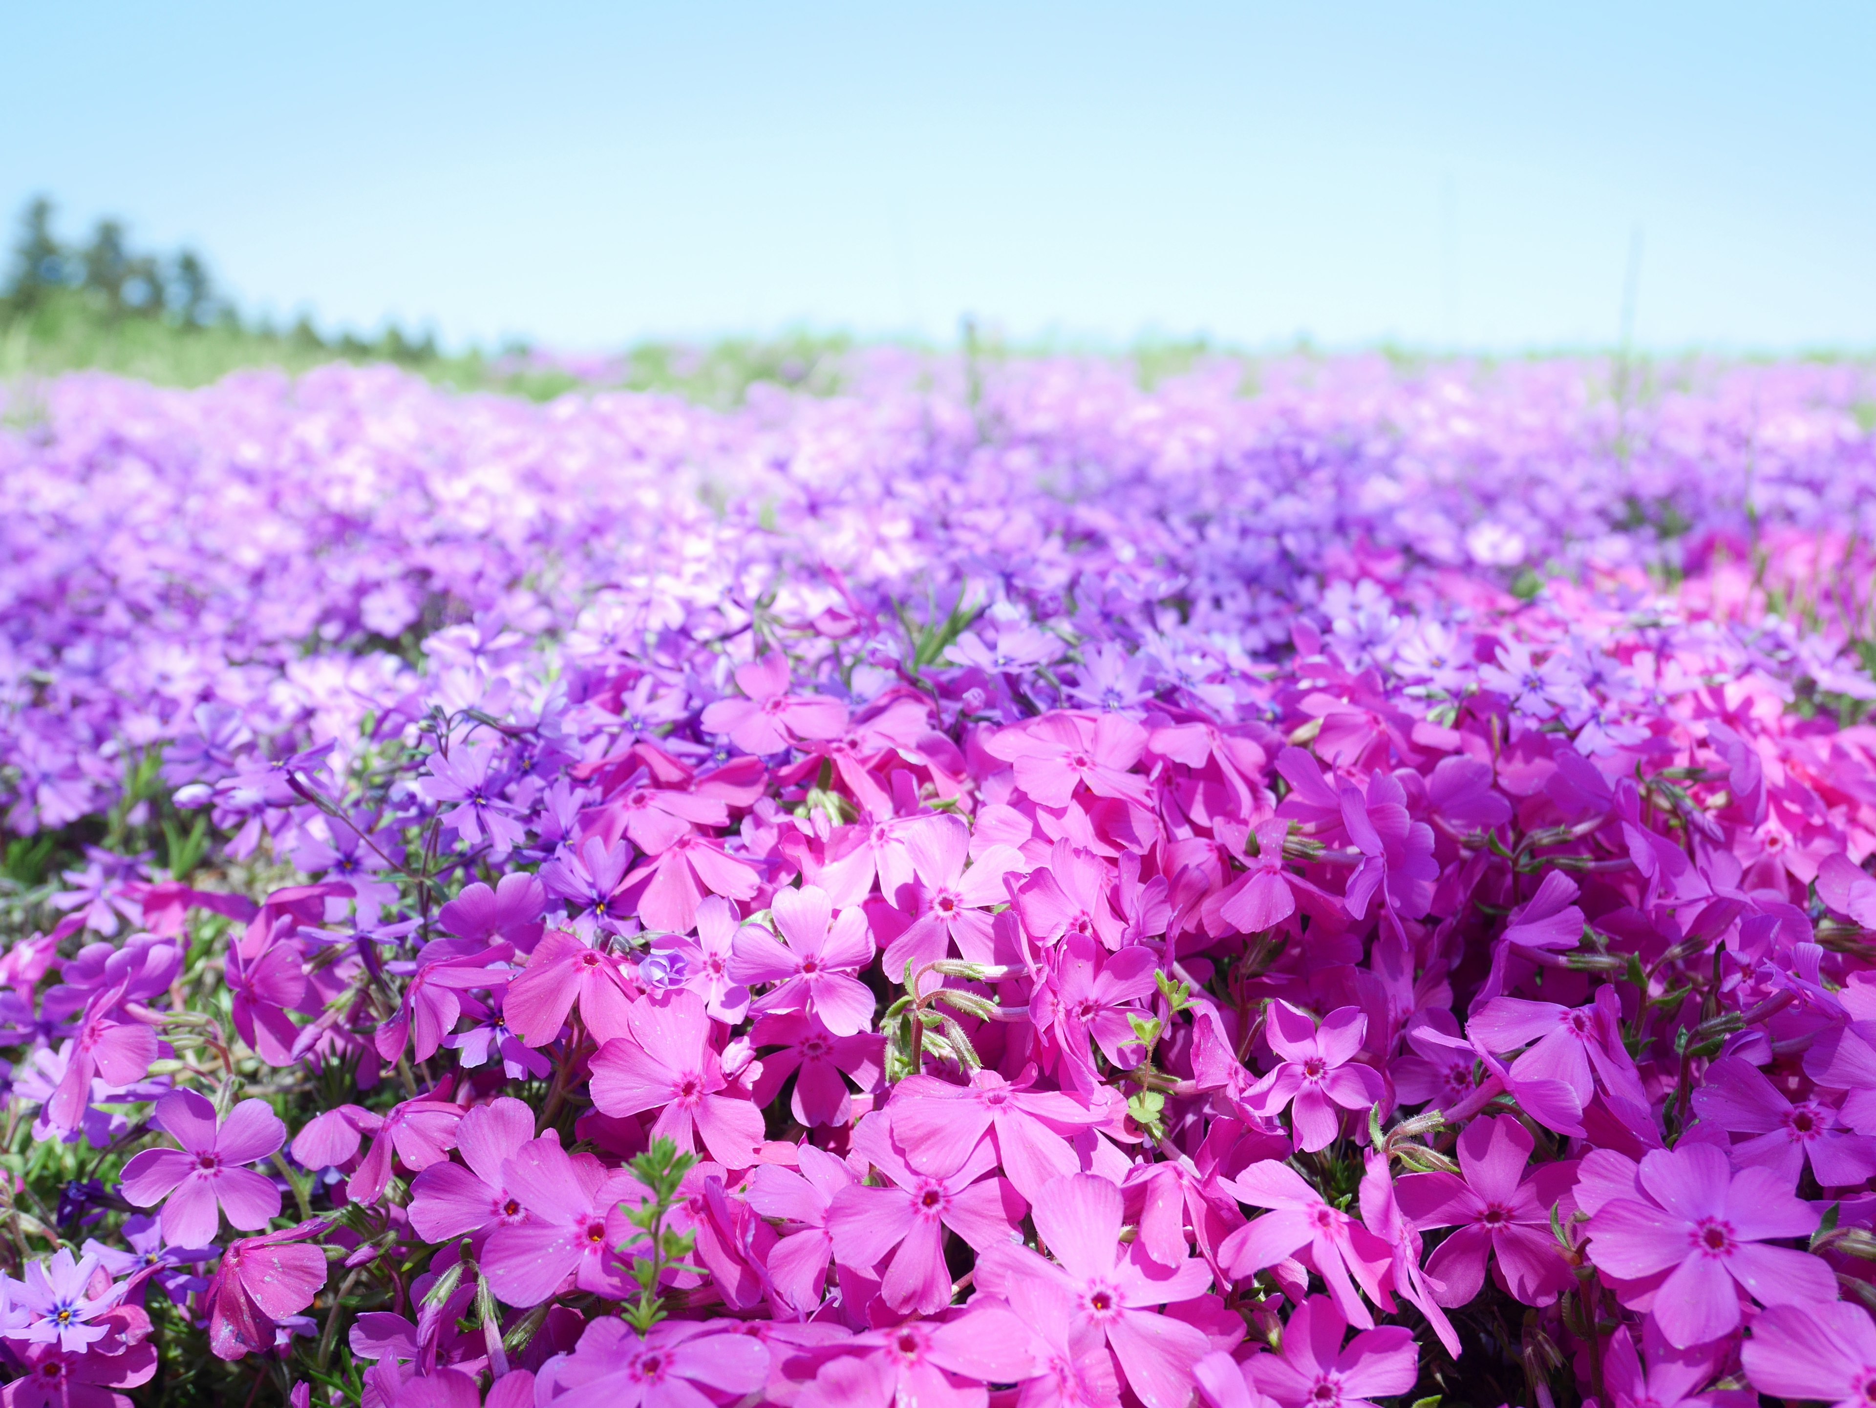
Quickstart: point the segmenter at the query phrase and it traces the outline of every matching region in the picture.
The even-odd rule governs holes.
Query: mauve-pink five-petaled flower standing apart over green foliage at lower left
[[[144,1149],[124,1164],[124,1196],[137,1207],[163,1204],[163,1237],[174,1247],[206,1247],[229,1226],[259,1232],[280,1217],[280,1189],[251,1164],[280,1151],[287,1127],[266,1101],[242,1101],[216,1121],[216,1108],[195,1091],[171,1091],[156,1102],[152,1123],[180,1149]],[[163,1202],[167,1198],[167,1202]]]

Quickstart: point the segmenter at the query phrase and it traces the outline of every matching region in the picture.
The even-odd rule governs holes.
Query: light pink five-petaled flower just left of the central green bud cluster
[[[745,924],[732,949],[732,979],[777,984],[750,1009],[795,1012],[805,1007],[837,1037],[872,1026],[872,988],[854,977],[872,958],[867,911],[842,909],[837,917],[833,900],[818,885],[777,891],[771,911],[780,939],[760,924]]]

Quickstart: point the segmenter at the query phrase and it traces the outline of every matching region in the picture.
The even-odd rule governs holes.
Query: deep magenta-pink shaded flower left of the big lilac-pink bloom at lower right
[[[1465,1305],[1497,1256],[1505,1286],[1525,1305],[1550,1305],[1570,1288],[1570,1267],[1550,1230],[1550,1211],[1576,1179],[1576,1164],[1544,1164],[1523,1177],[1536,1140],[1516,1116],[1475,1119],[1460,1134],[1454,1174],[1411,1174],[1394,1185],[1416,1230],[1460,1228],[1426,1264],[1439,1305]]]

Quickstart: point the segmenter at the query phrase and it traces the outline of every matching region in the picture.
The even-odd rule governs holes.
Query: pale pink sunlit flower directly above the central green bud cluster
[[[887,902],[912,915],[912,924],[885,949],[885,975],[902,981],[940,958],[959,954],[972,964],[994,960],[991,909],[1009,904],[1004,876],[1022,868],[1013,846],[985,846],[970,855],[970,827],[955,816],[921,817],[906,831],[914,883]],[[966,861],[970,861],[966,868]]]

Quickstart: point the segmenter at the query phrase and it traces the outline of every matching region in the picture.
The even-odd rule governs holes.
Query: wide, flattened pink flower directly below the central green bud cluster
[[[976,1071],[968,1086],[936,1076],[906,1076],[893,1086],[893,1144],[921,1174],[962,1168],[989,1132],[996,1162],[1017,1192],[1034,1200],[1045,1183],[1081,1168],[1064,1131],[1109,1119],[1066,1091],[1034,1089],[1036,1074],[1015,1084],[994,1071]]]

